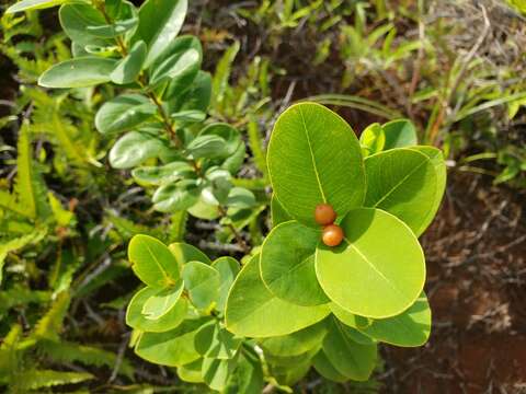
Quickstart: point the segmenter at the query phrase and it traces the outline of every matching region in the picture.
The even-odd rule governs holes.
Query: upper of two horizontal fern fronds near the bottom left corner
[[[38,349],[56,362],[80,362],[84,366],[113,368],[117,361],[117,356],[111,351],[64,340],[54,341],[45,339],[39,341],[37,346]],[[134,368],[128,360],[124,359],[119,372],[132,379]]]

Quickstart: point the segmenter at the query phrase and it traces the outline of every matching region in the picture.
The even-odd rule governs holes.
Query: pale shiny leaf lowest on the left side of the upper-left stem
[[[153,208],[160,212],[188,209],[199,199],[201,188],[194,179],[183,179],[159,187],[153,194]]]

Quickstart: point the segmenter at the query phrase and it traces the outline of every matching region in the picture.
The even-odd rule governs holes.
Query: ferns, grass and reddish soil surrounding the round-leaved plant
[[[248,147],[236,184],[254,193],[258,208],[235,221],[153,211],[150,192],[110,167],[114,141],[94,129],[112,88],[52,95],[36,86],[70,56],[56,11],[2,11],[0,384],[12,392],[203,392],[128,350],[124,312],[139,282],[127,241],[139,232],[184,239],[211,257],[239,257],[243,242],[258,247],[268,220],[270,130],[286,106],[309,97],[357,134],[374,121],[412,119],[421,142],[444,149],[449,185],[423,239],[430,344],[385,349],[365,386],[328,384],[312,372],[294,390],[524,390],[524,2],[190,3],[184,31],[203,42],[204,69],[214,76],[211,116],[236,125]]]

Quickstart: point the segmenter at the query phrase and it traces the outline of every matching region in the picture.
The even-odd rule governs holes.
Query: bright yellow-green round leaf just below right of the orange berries
[[[357,208],[340,224],[336,247],[320,243],[316,274],[325,294],[344,310],[373,318],[413,304],[425,281],[422,247],[412,231],[379,209]]]

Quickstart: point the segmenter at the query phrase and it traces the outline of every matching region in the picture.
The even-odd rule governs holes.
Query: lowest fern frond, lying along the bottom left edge
[[[87,372],[62,372],[54,370],[31,370],[16,376],[21,390],[38,390],[64,384],[76,384],[94,379]]]

